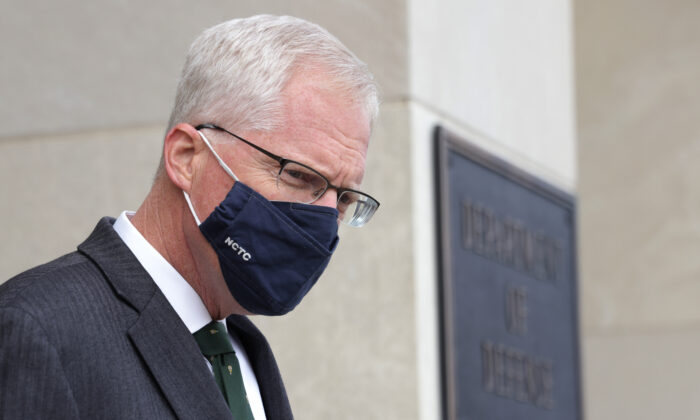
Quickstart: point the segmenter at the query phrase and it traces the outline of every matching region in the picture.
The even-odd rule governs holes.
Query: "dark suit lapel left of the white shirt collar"
[[[78,246],[139,313],[127,333],[180,419],[231,418],[197,343],[153,279],[103,218]],[[270,417],[274,418],[274,417]]]

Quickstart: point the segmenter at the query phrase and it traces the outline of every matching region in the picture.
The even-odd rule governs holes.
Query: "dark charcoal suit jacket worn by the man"
[[[197,343],[113,222],[0,286],[0,419],[230,419]],[[245,317],[227,323],[267,418],[291,419],[264,337]]]

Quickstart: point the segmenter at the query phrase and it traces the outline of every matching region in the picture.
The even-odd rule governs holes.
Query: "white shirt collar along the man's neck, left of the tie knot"
[[[114,230],[163,292],[187,329],[191,333],[198,331],[212,320],[202,298],[131,224],[129,218],[133,215],[134,212],[122,212],[114,222]]]

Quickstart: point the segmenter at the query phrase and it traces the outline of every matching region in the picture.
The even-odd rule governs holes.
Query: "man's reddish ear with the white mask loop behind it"
[[[189,124],[178,124],[168,131],[163,144],[163,163],[168,178],[178,188],[189,191],[192,186],[194,157],[199,134]]]

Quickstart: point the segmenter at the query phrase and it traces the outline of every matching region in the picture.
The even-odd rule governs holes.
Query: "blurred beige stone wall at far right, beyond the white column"
[[[700,4],[577,1],[589,419],[700,417]]]

